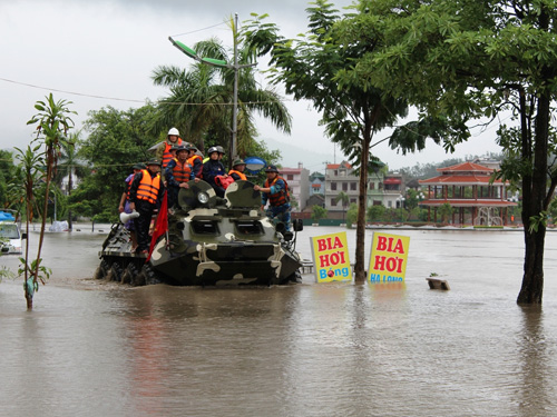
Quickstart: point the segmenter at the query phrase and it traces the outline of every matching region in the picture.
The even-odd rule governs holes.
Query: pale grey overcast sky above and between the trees
[[[352,1],[333,2],[341,9]],[[301,0],[0,0],[0,149],[27,146],[32,135],[27,121],[36,113],[35,102],[50,91],[56,100],[72,102],[77,128],[90,110],[106,106],[126,110],[165,97],[167,91],[152,82],[153,70],[160,64],[192,63],[172,46],[169,36],[187,46],[218,37],[232,47],[224,21],[238,13],[242,22],[256,12],[268,13],[282,34],[295,37],[306,31],[305,8],[307,3]],[[260,82],[266,85],[263,76]],[[284,99],[293,117],[292,135],[257,119],[260,139],[306,150],[300,159],[311,170],[320,169],[320,161],[340,162],[342,155],[323,137],[311,103]],[[385,143],[372,151],[391,169],[499,152],[496,129],[472,129],[472,139],[457,147],[455,155],[446,155],[432,141],[424,151],[405,157]],[[384,131],[377,138],[387,136]],[[283,161],[284,166],[294,163]]]

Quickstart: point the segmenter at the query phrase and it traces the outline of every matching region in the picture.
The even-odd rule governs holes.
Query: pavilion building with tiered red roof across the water
[[[419,181],[428,187],[428,198],[420,203],[428,208],[429,221],[437,221],[439,207],[449,203],[456,209],[453,224],[507,225],[508,208],[517,203],[508,201],[508,181],[491,180],[494,168],[463,162],[437,170],[439,176]]]

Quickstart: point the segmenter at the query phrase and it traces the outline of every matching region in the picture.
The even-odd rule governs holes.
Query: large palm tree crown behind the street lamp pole
[[[238,63],[252,62],[245,49],[238,48]],[[213,38],[194,46],[201,57],[233,62],[221,42]],[[159,102],[160,117],[154,130],[160,131],[176,126],[188,141],[197,142],[203,150],[204,138],[212,136],[212,145],[228,147],[232,126],[232,103],[234,97],[234,69],[194,63],[189,70],[174,66],[160,66],[153,72],[156,86],[170,89],[170,93]],[[272,89],[263,89],[255,80],[252,67],[238,70],[237,153],[246,156],[254,140],[254,113],[270,119],[280,130],[290,133],[292,117]],[[235,157],[235,156],[229,156]]]

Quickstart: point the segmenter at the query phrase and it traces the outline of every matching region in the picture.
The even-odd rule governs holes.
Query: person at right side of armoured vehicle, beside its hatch
[[[254,186],[255,191],[261,191],[261,209],[265,210],[265,205],[268,201],[268,210],[266,215],[270,219],[282,221],[290,230],[290,189],[286,180],[278,176],[278,170],[274,165],[270,165],[265,172],[267,179],[265,187]]]

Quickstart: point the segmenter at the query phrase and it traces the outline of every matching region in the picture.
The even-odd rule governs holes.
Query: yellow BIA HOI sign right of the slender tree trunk
[[[403,282],[409,247],[409,236],[374,232],[368,280],[371,284]]]

